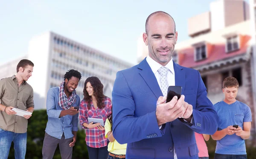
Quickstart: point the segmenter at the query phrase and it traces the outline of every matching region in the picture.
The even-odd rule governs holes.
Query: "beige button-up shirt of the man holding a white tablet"
[[[0,101],[6,107],[27,110],[34,107],[33,89],[24,81],[18,86],[15,75],[0,80]],[[0,128],[15,133],[26,133],[28,120],[23,116],[8,115],[0,111]]]

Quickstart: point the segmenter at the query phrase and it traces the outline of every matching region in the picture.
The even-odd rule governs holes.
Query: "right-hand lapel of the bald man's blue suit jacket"
[[[173,63],[173,66],[175,71],[175,86],[181,86],[181,94],[183,94],[185,89],[185,71],[180,65],[176,63]]]

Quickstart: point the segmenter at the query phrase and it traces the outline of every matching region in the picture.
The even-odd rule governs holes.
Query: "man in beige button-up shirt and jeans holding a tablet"
[[[33,89],[26,83],[34,64],[26,59],[17,64],[17,75],[0,80],[0,156],[7,159],[12,142],[15,159],[25,159],[27,125],[32,115],[17,116],[12,108],[33,112]]]

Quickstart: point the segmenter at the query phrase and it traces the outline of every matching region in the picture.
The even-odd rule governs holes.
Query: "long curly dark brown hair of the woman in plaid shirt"
[[[90,102],[92,101],[92,97],[88,94],[86,90],[86,84],[88,82],[90,82],[91,86],[93,87],[93,95],[97,100],[97,107],[99,109],[104,108],[105,104],[103,103],[103,100],[106,96],[103,94],[103,84],[101,83],[98,77],[93,76],[93,77],[88,77],[84,82],[83,93],[84,93],[84,100],[88,102],[87,109],[90,110],[91,108]]]

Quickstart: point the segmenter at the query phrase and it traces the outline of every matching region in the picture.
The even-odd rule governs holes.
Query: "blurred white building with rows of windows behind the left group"
[[[132,66],[53,32],[33,37],[29,42],[28,55],[24,58],[35,64],[32,77],[28,80],[34,90],[35,109],[46,108],[47,91],[51,87],[58,87],[64,81],[64,74],[69,69],[76,69],[82,74],[82,79],[76,88],[76,93],[81,99],[84,81],[90,76],[96,76],[101,80],[104,94],[111,98],[116,72]],[[16,74],[16,66],[20,59],[22,58],[4,64],[2,72],[8,73],[0,75],[0,78]]]

